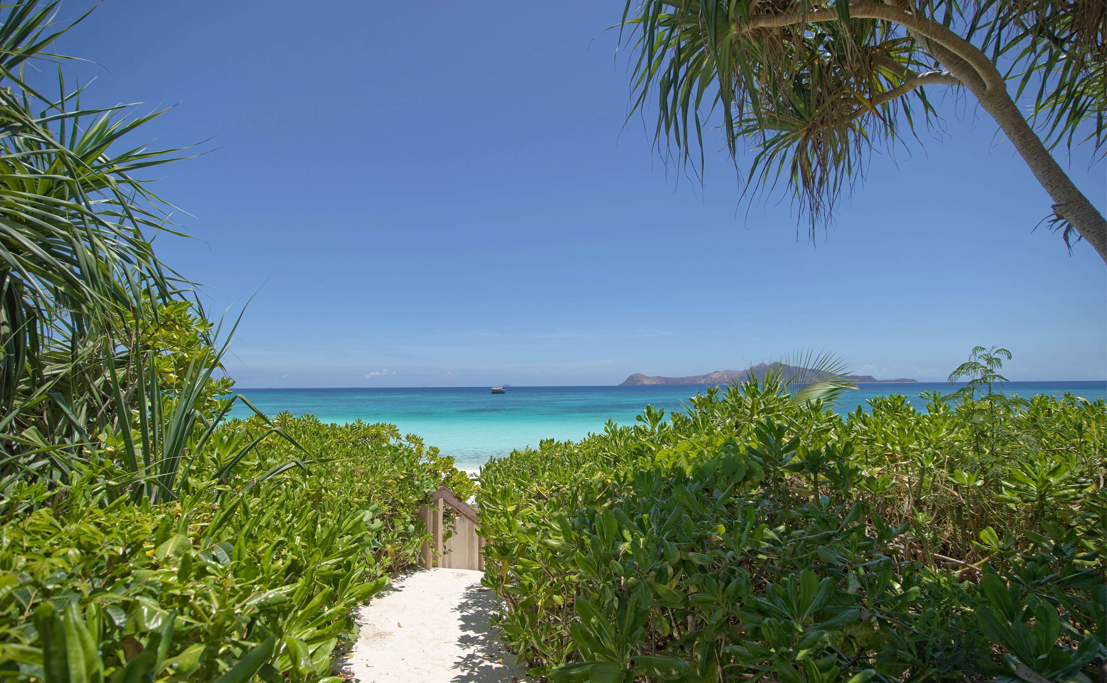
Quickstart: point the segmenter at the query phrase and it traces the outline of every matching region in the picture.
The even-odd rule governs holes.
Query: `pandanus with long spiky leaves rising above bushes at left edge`
[[[95,455],[117,465],[108,497],[167,500],[245,399],[225,397],[227,344],[154,252],[154,235],[180,234],[141,174],[178,151],[130,141],[163,112],[82,106],[50,50],[76,23],[58,23],[58,7],[0,7],[0,491],[62,486]],[[270,433],[287,437],[271,427],[216,478]]]

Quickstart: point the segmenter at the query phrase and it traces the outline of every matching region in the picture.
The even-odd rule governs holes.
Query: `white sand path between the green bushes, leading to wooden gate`
[[[361,683],[526,682],[488,622],[498,606],[480,575],[430,569],[394,580],[359,610],[348,673]]]

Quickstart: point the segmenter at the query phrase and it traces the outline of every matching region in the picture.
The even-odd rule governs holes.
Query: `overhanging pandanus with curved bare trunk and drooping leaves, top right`
[[[721,117],[748,149],[743,194],[786,186],[814,231],[868,154],[969,93],[1053,199],[1048,224],[1107,261],[1107,221],[1054,157],[1107,143],[1104,0],[628,0],[634,111],[656,97],[659,147],[703,163]],[[699,161],[695,153],[699,152]]]

